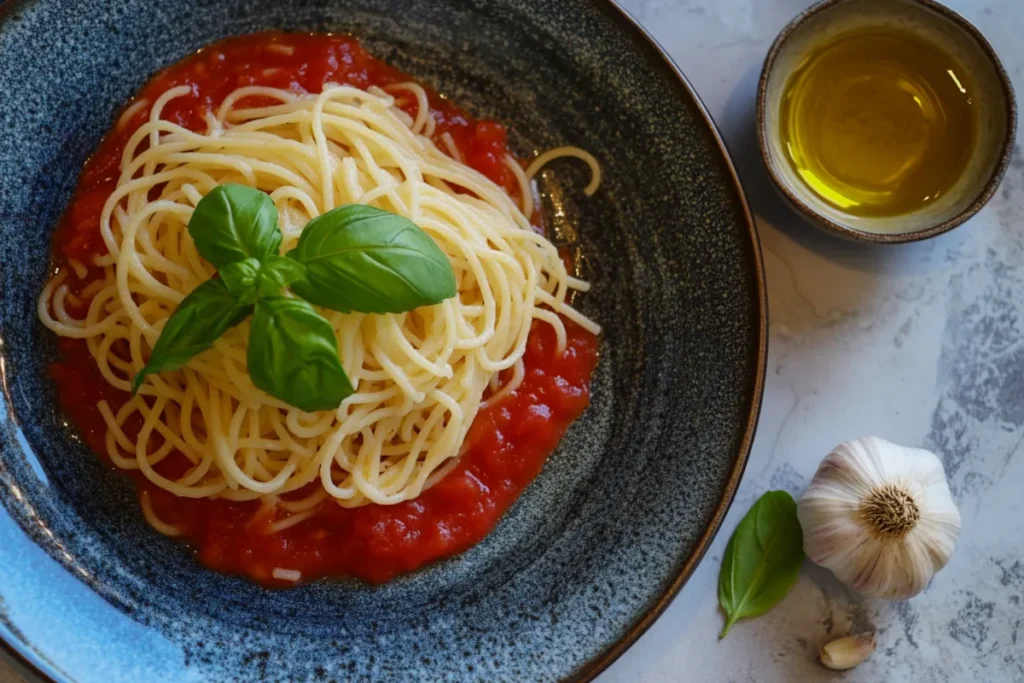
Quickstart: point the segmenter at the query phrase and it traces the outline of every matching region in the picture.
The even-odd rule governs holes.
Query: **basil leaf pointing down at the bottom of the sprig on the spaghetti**
[[[307,413],[334,410],[353,392],[334,328],[301,299],[256,303],[248,362],[253,384]]]

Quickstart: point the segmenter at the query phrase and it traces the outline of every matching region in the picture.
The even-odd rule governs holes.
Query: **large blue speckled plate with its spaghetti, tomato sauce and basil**
[[[0,639],[54,681],[589,680],[738,484],[765,300],[607,3],[8,3]]]

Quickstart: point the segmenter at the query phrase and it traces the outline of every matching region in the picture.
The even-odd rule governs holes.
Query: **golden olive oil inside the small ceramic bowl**
[[[863,28],[812,50],[780,111],[794,169],[825,202],[858,216],[904,214],[955,184],[975,145],[973,85],[940,47]]]

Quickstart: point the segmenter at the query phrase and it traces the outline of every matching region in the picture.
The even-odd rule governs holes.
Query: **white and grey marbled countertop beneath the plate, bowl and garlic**
[[[1024,683],[1024,155],[968,224],[900,247],[841,243],[774,196],[754,132],[761,63],[808,0],[624,0],[689,77],[732,152],[758,219],[770,356],[757,440],[736,503],[682,593],[600,683]],[[951,0],[1024,93],[1024,1]],[[943,459],[964,517],[929,589],[868,600],[806,565],[768,614],[719,642],[729,535],[769,488],[799,495],[831,446],[874,434]],[[838,674],[831,638],[874,628],[879,649]],[[13,675],[0,664],[0,683]]]

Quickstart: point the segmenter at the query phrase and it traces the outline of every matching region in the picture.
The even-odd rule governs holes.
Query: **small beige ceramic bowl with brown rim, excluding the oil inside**
[[[833,36],[863,27],[910,31],[942,45],[974,78],[978,142],[959,180],[940,200],[908,214],[854,216],[821,200],[797,174],[779,135],[779,113],[790,76]],[[848,240],[894,244],[946,232],[991,199],[1006,173],[1017,127],[1013,86],[995,50],[978,29],[933,0],[825,0],[788,24],[765,58],[758,86],[758,141],[772,181],[804,216]]]

